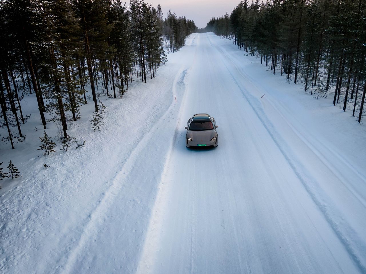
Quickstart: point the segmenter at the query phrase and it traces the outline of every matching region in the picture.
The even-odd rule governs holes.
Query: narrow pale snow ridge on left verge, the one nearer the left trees
[[[182,69],[180,69],[182,71]],[[187,69],[183,72],[178,72],[173,88],[175,87],[176,83],[181,83],[184,81],[184,77],[187,73]],[[179,77],[180,76],[180,77]],[[173,90],[173,95],[176,93]],[[69,252],[69,256],[67,258],[66,264],[63,266],[63,270],[61,273],[67,274],[72,271],[72,267],[75,265],[76,260],[78,259],[78,255],[83,252],[83,248],[86,246],[86,243],[90,239],[90,236],[96,232],[97,224],[101,221],[102,217],[105,216],[105,212],[107,212],[109,206],[113,203],[119,192],[122,190],[124,186],[124,182],[126,177],[129,174],[129,171],[133,167],[135,161],[141,158],[141,154],[144,154],[144,148],[146,147],[146,143],[150,140],[150,138],[154,135],[154,131],[152,129],[156,128],[156,125],[163,122],[165,118],[169,115],[169,113],[175,109],[176,103],[174,97],[172,98],[172,102],[168,109],[164,112],[164,114],[150,127],[150,130],[146,131],[144,137],[138,142],[136,147],[131,151],[130,155],[128,156],[127,160],[123,164],[122,169],[115,175],[112,180],[111,186],[105,191],[103,197],[100,199],[97,206],[94,210],[89,214],[89,220],[87,221],[86,225],[84,226],[81,236],[79,238],[78,243],[74,248],[72,248]],[[178,125],[177,125],[178,126]],[[176,138],[176,134],[175,137]],[[168,155],[170,153],[168,152]]]

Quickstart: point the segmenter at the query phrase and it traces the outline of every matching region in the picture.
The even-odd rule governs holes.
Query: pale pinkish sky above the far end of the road
[[[194,20],[198,28],[204,28],[212,17],[223,16],[226,12],[230,15],[240,0],[145,0],[145,3],[155,8],[160,4],[164,19],[171,9],[177,17],[186,16]]]

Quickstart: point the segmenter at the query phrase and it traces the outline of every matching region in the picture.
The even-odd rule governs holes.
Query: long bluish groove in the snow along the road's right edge
[[[210,41],[209,37],[208,37],[208,40],[209,40],[210,44],[212,45],[212,42]],[[217,47],[214,47],[214,48],[217,51],[219,51],[229,62],[231,62],[234,65],[234,67],[240,73],[240,75],[242,75],[244,78],[248,79],[248,77],[243,75],[243,73],[240,71],[238,66],[236,66],[236,64],[232,60],[230,60],[230,58],[226,54],[224,54],[224,52],[221,49],[218,49]],[[305,170],[305,167],[303,167],[301,165],[301,162],[296,159],[296,157],[292,153],[291,149],[288,148],[288,146],[286,146],[286,145],[282,145],[282,144],[286,144],[286,142],[281,137],[281,135],[276,131],[273,124],[270,122],[269,118],[267,117],[267,115],[265,114],[264,110],[261,107],[261,102],[258,101],[258,99],[255,96],[251,95],[245,88],[243,88],[238,83],[238,81],[235,79],[235,76],[232,74],[232,72],[230,71],[228,66],[225,64],[225,62],[223,62],[223,63],[225,65],[225,68],[227,69],[227,71],[231,75],[232,80],[234,81],[236,86],[239,88],[240,92],[242,92],[242,94],[243,94],[244,98],[246,99],[246,101],[248,102],[249,106],[254,111],[254,113],[258,117],[259,121],[261,121],[262,125],[264,126],[264,128],[268,132],[269,136],[272,138],[273,142],[279,148],[281,154],[284,156],[284,158],[286,159],[286,161],[290,165],[291,169],[294,171],[294,173],[298,177],[299,181],[302,183],[305,190],[307,191],[307,193],[309,194],[311,199],[314,201],[315,205],[317,205],[319,210],[322,212],[323,216],[325,217],[325,220],[328,222],[328,224],[330,225],[330,227],[334,231],[337,238],[343,244],[344,248],[347,250],[348,254],[350,255],[350,257],[354,261],[355,265],[358,267],[358,269],[361,271],[361,273],[365,274],[366,273],[366,267],[361,262],[361,259],[357,255],[357,252],[352,248],[352,244],[350,243],[350,241],[340,231],[340,228],[337,225],[337,222],[335,220],[333,220],[331,214],[328,211],[327,205],[325,203],[322,203],[317,198],[316,193],[314,193],[314,191],[311,189],[309,184],[306,183],[307,181],[315,182],[316,180],[312,176],[310,176],[310,172],[307,172]],[[351,227],[347,227],[347,228],[349,229],[349,231],[352,231]],[[362,247],[361,249],[366,250],[365,247]]]

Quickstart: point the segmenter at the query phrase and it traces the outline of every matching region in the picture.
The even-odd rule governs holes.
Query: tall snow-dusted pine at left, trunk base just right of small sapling
[[[78,62],[75,55],[82,50],[79,19],[65,0],[42,1],[36,8],[36,17],[42,19],[38,44],[44,54],[40,57],[40,69],[49,72],[42,77],[48,110],[55,113],[51,120],[61,123],[63,137],[68,138],[67,122],[76,121],[83,93],[76,88],[76,78],[72,76],[72,68]],[[72,112],[72,118],[68,118],[66,111]]]

